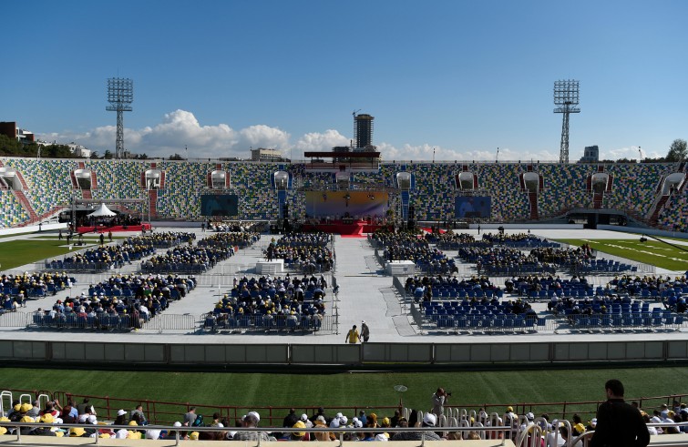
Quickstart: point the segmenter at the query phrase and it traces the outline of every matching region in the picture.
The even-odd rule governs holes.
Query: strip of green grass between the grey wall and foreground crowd
[[[111,399],[174,401],[259,407],[395,406],[426,410],[439,386],[452,391],[450,403],[470,408],[484,403],[539,402],[532,411],[560,411],[546,402],[604,400],[604,382],[620,379],[629,398],[688,393],[688,369],[636,368],[544,371],[340,372],[322,374],[249,372],[137,372],[0,369],[0,389],[67,391]],[[658,379],[658,380],[653,380]],[[659,380],[659,378],[671,378]],[[406,392],[394,390],[406,385]],[[656,406],[661,401],[646,401]],[[101,403],[102,404],[102,403]],[[114,405],[117,405],[116,403]],[[594,405],[569,411],[592,411]],[[555,410],[556,409],[556,410]]]

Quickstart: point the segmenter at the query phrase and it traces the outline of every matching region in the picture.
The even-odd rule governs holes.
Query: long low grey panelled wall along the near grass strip
[[[0,340],[0,360],[169,366],[513,364],[684,361],[688,340],[501,343],[366,343],[365,345],[125,343]]]

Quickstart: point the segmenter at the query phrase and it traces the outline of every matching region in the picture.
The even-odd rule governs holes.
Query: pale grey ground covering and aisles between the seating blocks
[[[156,231],[167,231],[175,229],[159,228]],[[176,229],[180,230],[180,229]],[[195,231],[198,239],[204,235],[200,229],[183,229],[184,231]],[[465,232],[477,234],[477,230],[463,230]],[[514,230],[513,232],[520,232]],[[11,238],[0,239],[0,242],[11,239],[26,239],[32,237],[46,237],[47,233],[41,235],[13,236]],[[593,231],[593,230],[533,230],[542,238],[574,238],[574,239],[636,239],[638,235],[621,233],[616,231]],[[123,235],[119,233],[118,236]],[[54,233],[56,237],[56,233]],[[236,275],[253,275],[252,268],[256,261],[262,258],[262,249],[269,243],[271,236],[263,236],[262,240],[251,249],[240,250],[240,252],[223,261],[208,274],[202,275],[200,287],[193,290],[186,298],[173,302],[166,314],[193,315],[200,316],[203,312],[213,308],[221,294],[231,289],[231,280]],[[117,243],[117,241],[113,242]],[[208,333],[158,333],[157,330],[139,330],[131,333],[108,334],[100,332],[88,332],[89,340],[127,340],[128,342],[157,342],[157,341],[179,341],[198,343],[202,337],[206,343],[252,343],[252,342],[290,342],[290,343],[343,343],[346,331],[353,325],[360,325],[362,320],[368,323],[371,328],[371,341],[403,341],[403,342],[498,342],[499,340],[522,340],[529,341],[551,341],[551,340],[647,340],[648,337],[665,339],[684,339],[685,332],[657,332],[649,334],[647,332],[627,332],[611,334],[555,334],[555,333],[536,333],[523,335],[455,335],[438,333],[432,330],[421,330],[412,324],[408,316],[409,302],[392,287],[392,278],[387,277],[382,272],[382,266],[375,259],[375,250],[370,246],[367,239],[341,238],[334,239],[334,249],[336,253],[336,269],[334,276],[340,286],[340,293],[334,299],[331,290],[327,310],[331,314],[338,315],[339,327],[334,333],[316,334],[208,334]],[[449,251],[447,255],[456,256],[456,251]],[[610,258],[606,256],[606,258]],[[32,270],[33,265],[27,265],[17,270]],[[134,272],[138,269],[137,264],[126,265],[122,269],[111,270],[108,275],[117,273]],[[475,273],[475,269],[470,266],[461,266],[459,274],[470,276]],[[683,274],[683,272],[668,272],[657,269],[660,274]],[[38,308],[50,308],[56,300],[61,300],[67,295],[87,292],[88,285],[101,279],[100,275],[75,275],[78,279],[77,285],[72,290],[58,293],[55,297],[46,297],[41,300],[31,300],[28,302],[24,311],[34,311]],[[102,278],[105,278],[103,276]],[[606,284],[609,277],[591,277],[594,284]],[[496,279],[495,282],[503,284],[503,279]],[[658,305],[655,303],[655,305]],[[545,303],[536,303],[534,308],[544,313]],[[6,316],[5,316],[6,317]],[[5,318],[0,317],[0,318]],[[200,318],[200,317],[199,317]],[[30,339],[30,340],[55,340],[65,336],[64,332],[48,332],[46,330],[20,330],[18,328],[0,327],[0,337],[4,339]],[[69,335],[71,337],[72,335]],[[67,337],[66,337],[67,338]]]

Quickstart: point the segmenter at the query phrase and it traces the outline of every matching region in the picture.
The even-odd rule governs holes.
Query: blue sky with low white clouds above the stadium
[[[375,117],[385,160],[558,160],[552,90],[580,81],[570,160],[688,139],[682,0],[5,0],[0,121],[114,152],[107,79],[133,80],[124,147],[293,159]]]

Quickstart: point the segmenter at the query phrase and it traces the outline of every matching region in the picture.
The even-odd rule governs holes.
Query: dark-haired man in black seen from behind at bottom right
[[[623,384],[611,379],[604,384],[607,401],[597,411],[597,427],[590,447],[646,447],[650,433],[641,412],[623,401]]]

